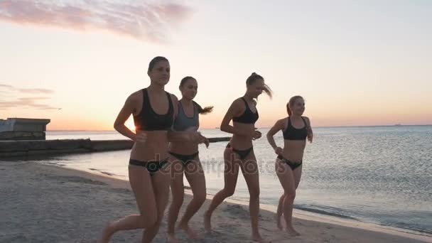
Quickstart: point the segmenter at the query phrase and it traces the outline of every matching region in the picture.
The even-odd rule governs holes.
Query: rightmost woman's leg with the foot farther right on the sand
[[[282,188],[284,188],[284,217],[286,222],[286,232],[291,236],[300,235],[293,227],[293,202],[296,198],[296,182],[293,171],[286,163],[276,159],[276,174],[279,177]]]

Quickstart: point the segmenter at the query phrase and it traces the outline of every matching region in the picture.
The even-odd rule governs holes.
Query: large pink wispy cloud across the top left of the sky
[[[181,1],[167,0],[0,0],[0,21],[102,29],[158,43],[165,43],[169,31],[192,12]]]

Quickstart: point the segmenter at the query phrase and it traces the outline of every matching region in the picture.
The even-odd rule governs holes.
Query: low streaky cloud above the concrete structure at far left
[[[50,104],[43,104],[43,102],[47,102],[50,97],[45,96],[34,96],[34,97],[16,97],[17,95],[31,94],[52,94],[53,90],[47,89],[24,89],[24,88],[16,88],[12,85],[4,85],[0,84],[0,109],[11,109],[11,108],[33,108],[33,109],[58,109],[58,107],[53,107]],[[7,100],[4,100],[5,98]]]

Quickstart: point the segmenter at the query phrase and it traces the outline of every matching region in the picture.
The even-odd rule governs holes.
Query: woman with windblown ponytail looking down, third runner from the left
[[[264,242],[258,231],[259,174],[252,140],[261,137],[261,132],[255,128],[255,121],[257,121],[259,115],[254,99],[257,99],[263,91],[271,97],[271,90],[264,83],[264,78],[255,72],[247,78],[246,86],[246,94],[232,102],[220,125],[222,131],[232,134],[232,139],[229,141],[224,153],[225,187],[215,195],[210,207],[205,212],[204,226],[207,231],[211,231],[212,212],[225,198],[234,194],[239,168],[241,168],[250,195],[249,209],[252,223],[252,240]],[[232,126],[229,125],[231,120],[233,121]]]

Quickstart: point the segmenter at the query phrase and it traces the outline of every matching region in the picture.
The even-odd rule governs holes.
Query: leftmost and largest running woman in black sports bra
[[[170,78],[170,64],[163,57],[151,60],[147,71],[151,84],[130,95],[119,112],[114,129],[135,141],[129,160],[129,182],[134,191],[139,215],[129,215],[110,222],[98,242],[109,242],[115,232],[144,228],[142,242],[151,242],[158,233],[168,203],[171,168],[168,141],[203,142],[200,134],[175,134],[171,131],[178,99],[165,91]],[[136,133],[124,123],[134,116]]]

